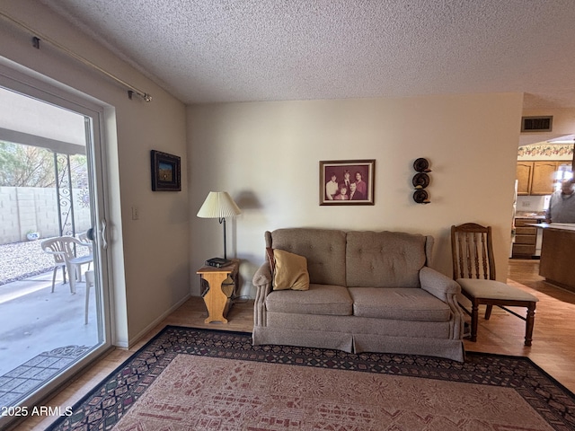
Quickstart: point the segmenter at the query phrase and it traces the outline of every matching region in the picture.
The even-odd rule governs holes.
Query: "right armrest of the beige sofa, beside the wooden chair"
[[[449,305],[454,321],[451,338],[461,339],[464,333],[464,312],[457,303],[457,295],[461,294],[461,286],[452,278],[429,267],[420,269],[420,285],[429,294]]]

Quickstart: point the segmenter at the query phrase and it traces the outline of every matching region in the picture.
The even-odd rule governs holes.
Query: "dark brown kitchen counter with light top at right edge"
[[[575,292],[575,224],[534,224],[543,230],[539,275],[549,283]]]

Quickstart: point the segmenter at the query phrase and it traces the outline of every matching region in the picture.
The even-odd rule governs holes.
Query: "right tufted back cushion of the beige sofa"
[[[347,285],[419,287],[427,237],[398,232],[348,232]]]

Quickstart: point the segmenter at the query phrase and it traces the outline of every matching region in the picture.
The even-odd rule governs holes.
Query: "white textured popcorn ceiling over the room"
[[[526,109],[575,107],[573,0],[41,1],[186,103],[526,92]]]

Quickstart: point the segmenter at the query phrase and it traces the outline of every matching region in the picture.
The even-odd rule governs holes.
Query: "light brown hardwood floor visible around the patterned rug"
[[[539,298],[535,313],[533,346],[525,347],[525,322],[502,310],[493,309],[491,319],[485,321],[480,314],[477,342],[464,341],[465,349],[513,356],[528,356],[535,364],[551,374],[570,391],[575,392],[575,343],[571,335],[575,328],[575,294],[550,285],[538,275],[538,260],[509,259],[509,283],[525,289]],[[524,286],[522,286],[524,285]],[[194,297],[168,316],[136,346],[115,349],[75,381],[59,391],[44,405],[62,408],[74,405],[96,383],[128,359],[139,347],[162,330],[165,325],[190,326],[223,330],[252,330],[253,301],[235,303],[228,314],[229,323],[204,323],[207,312],[201,298]],[[481,312],[481,311],[480,311]],[[30,418],[17,430],[43,430],[54,418]]]

